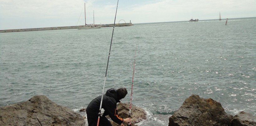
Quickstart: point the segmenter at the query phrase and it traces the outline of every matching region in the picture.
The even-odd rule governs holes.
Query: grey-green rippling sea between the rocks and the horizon
[[[251,17],[228,19],[227,25],[216,19],[0,33],[0,106],[45,95],[80,113],[102,95],[106,77],[104,93],[125,87],[121,102],[130,102],[133,92],[132,104],[146,111],[139,126],[167,126],[192,94],[216,100],[227,114],[256,116],[255,22]]]

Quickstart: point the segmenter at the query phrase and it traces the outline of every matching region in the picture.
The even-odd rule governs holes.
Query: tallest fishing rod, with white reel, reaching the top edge
[[[118,1],[117,1],[117,8],[118,8]],[[115,24],[116,24],[116,17],[117,17],[117,9],[116,9],[116,15],[115,15],[114,26],[113,26],[113,31],[112,31],[112,37],[111,37],[111,42],[110,42],[110,48],[109,48],[109,53],[108,53],[107,67],[108,67],[109,56],[110,56],[110,51],[111,51],[111,45],[112,45],[112,40],[113,40],[114,28],[115,28]],[[105,80],[104,80],[103,90],[102,90],[102,95],[101,95],[101,104],[100,104],[100,110],[99,110],[99,114],[98,114],[97,126],[99,126],[100,116],[102,116],[103,113],[104,113],[104,109],[101,109],[101,107],[102,107],[103,94],[104,94],[104,90],[105,90],[106,78],[107,78],[107,69],[106,69]]]

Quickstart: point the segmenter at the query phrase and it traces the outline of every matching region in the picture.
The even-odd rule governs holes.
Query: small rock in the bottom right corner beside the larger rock
[[[234,116],[231,126],[256,126],[256,117],[242,111]]]

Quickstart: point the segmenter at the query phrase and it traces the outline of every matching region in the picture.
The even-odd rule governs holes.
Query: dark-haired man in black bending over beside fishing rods
[[[120,118],[118,115],[118,110],[116,109],[117,103],[120,102],[120,100],[123,99],[126,94],[126,88],[119,88],[117,90],[111,88],[107,90],[106,94],[103,95],[102,108],[105,109],[105,112],[103,116],[100,116],[99,126],[112,126],[109,120],[105,117],[107,115],[109,115],[114,122],[121,126],[123,126],[123,122],[131,122],[131,118]],[[101,97],[102,96],[98,96],[93,99],[86,108],[89,126],[97,126]]]

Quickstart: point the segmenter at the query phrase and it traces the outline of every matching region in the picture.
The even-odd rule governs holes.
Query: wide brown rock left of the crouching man
[[[40,95],[23,103],[0,107],[0,125],[85,126],[85,120],[80,114]]]

